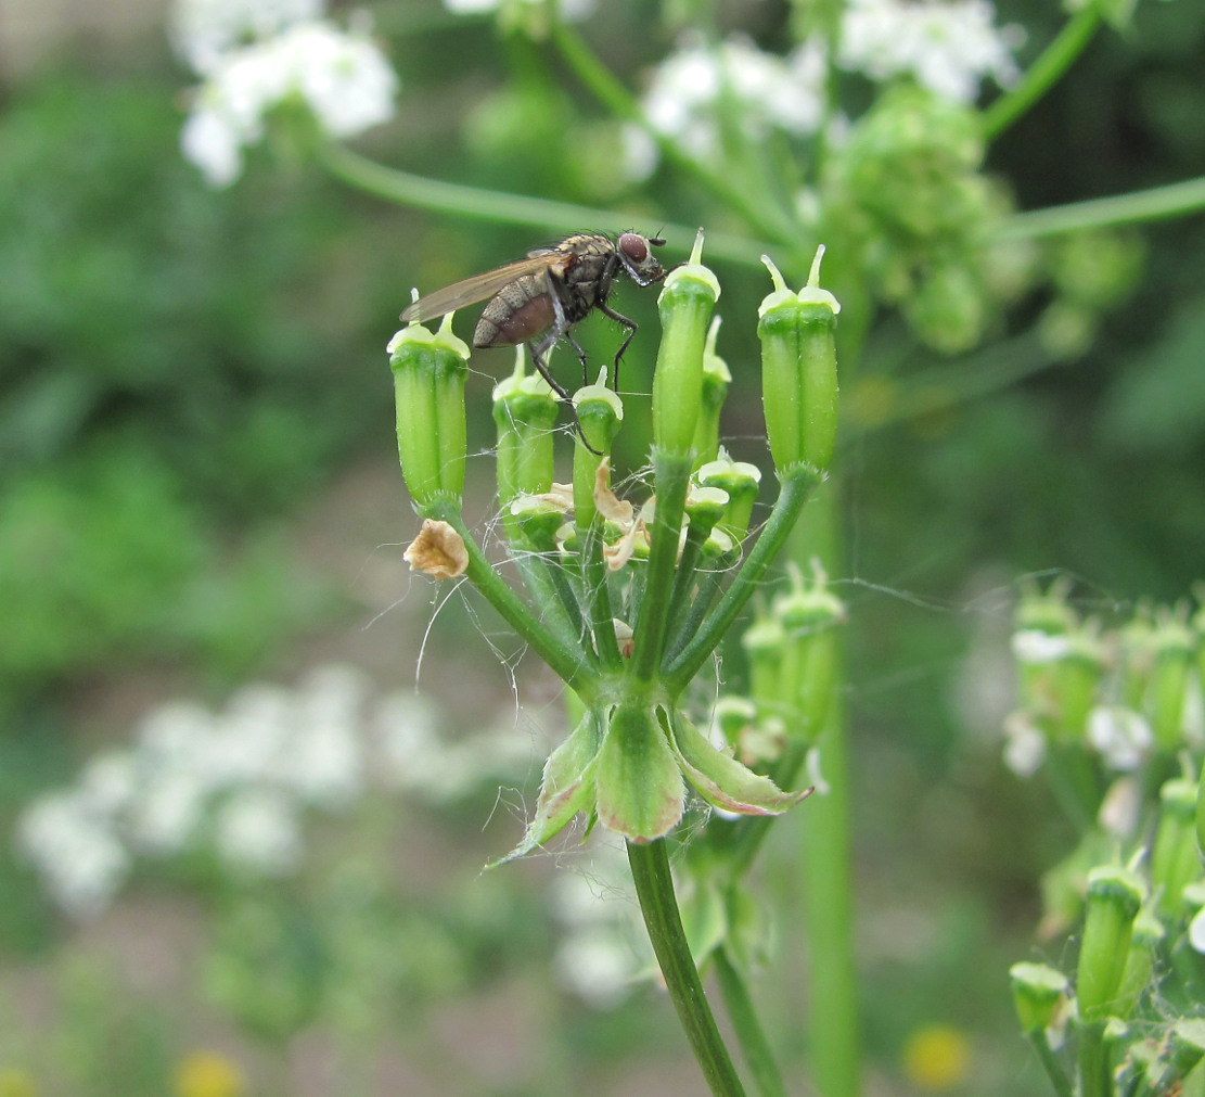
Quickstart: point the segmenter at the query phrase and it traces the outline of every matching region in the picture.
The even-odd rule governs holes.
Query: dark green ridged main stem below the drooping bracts
[[[627,845],[648,939],[703,1077],[715,1097],[745,1097],[741,1080],[716,1028],[716,1019],[711,1015],[682,929],[665,840],[642,845],[629,841]]]

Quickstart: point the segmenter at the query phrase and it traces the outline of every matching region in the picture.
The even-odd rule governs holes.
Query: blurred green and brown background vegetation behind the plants
[[[261,152],[237,186],[213,192],[178,152],[188,77],[159,5],[5,7],[7,833],[31,796],[71,780],[81,759],[174,696],[218,704],[248,679],[292,681],[330,655],[365,665],[382,687],[413,681],[430,611],[396,564],[400,550],[383,547],[413,526],[395,474],[384,342],[412,284],[496,265],[542,236],[398,210]],[[1064,18],[1045,0],[999,10],[1029,30],[1022,63]],[[583,27],[629,87],[672,41],[647,11],[616,0]],[[768,48],[789,45],[788,16],[784,2],[717,5],[722,28]],[[617,128],[537,45],[436,0],[382,4],[376,28],[402,93],[396,121],[362,149],[437,178],[622,207],[637,230],[712,227],[706,196],[671,169],[640,186],[613,169]],[[1022,210],[1205,174],[1203,52],[1205,7],[1141,4],[1130,34],[1101,33],[993,146],[991,170]],[[991,353],[966,356],[963,387],[951,385],[957,359],[886,317],[845,391],[850,563],[837,579],[852,605],[859,940],[880,1092],[921,1085],[904,1064],[918,1019],[957,1022],[970,1042],[975,1075],[951,1092],[1039,1085],[1013,1034],[1005,970],[1027,955],[1036,880],[1068,837],[1038,790],[1001,772],[991,738],[1007,708],[1017,576],[1068,573],[1100,611],[1171,602],[1201,577],[1205,218],[1119,239],[1113,263],[1051,245],[1062,280],[1018,304]],[[735,456],[757,459],[751,317],[765,280],[715,266],[731,317],[724,430]],[[1121,271],[1124,292],[1098,293],[1101,270]],[[627,287],[621,297],[656,325],[652,295]],[[1056,300],[1091,313],[1087,335],[1081,324],[1058,354],[1028,338]],[[583,341],[601,347],[611,335],[587,324]],[[647,391],[654,346],[637,338],[627,387]],[[493,376],[510,365],[500,352],[474,359]],[[1018,380],[977,393],[983,370]],[[471,383],[474,452],[490,444],[490,382]],[[488,464],[476,465],[484,518]],[[457,684],[449,708],[462,728],[515,705],[477,628],[449,603],[422,677],[436,696]],[[83,931],[54,921],[6,841],[0,1001],[13,1022],[0,1025],[0,1095],[164,1093],[194,1045],[223,1050],[265,1093],[695,1092],[693,1066],[666,1050],[678,1036],[656,995],[635,1014],[566,1009],[541,979],[554,926],[540,888],[552,866],[475,875],[518,833],[512,811],[482,831],[495,788],[455,811],[389,800],[354,823],[328,823],[319,863],[284,896],[205,885],[201,902],[195,888],[181,898],[143,881]],[[369,858],[359,876],[358,862],[343,866],[354,886],[331,875],[349,850]],[[766,886],[789,901],[789,880],[770,875]],[[199,939],[208,941],[207,996],[193,978]],[[399,958],[398,940],[422,946]],[[171,972],[140,981],[139,943],[175,957]],[[364,955],[348,958],[336,943]],[[225,973],[216,993],[214,970]],[[782,1005],[789,1031],[798,1003]],[[471,1056],[441,1061],[437,1049],[457,1040],[487,1049],[493,1074]],[[67,1066],[52,1069],[55,1061]],[[218,1086],[195,1092],[225,1092],[219,1074],[194,1072],[194,1083]]]

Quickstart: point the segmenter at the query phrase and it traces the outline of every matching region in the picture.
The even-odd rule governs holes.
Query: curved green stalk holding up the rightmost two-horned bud
[[[694,634],[682,652],[670,661],[663,675],[671,696],[681,693],[690,682],[707,657],[731,628],[741,610],[760,587],[762,579],[774,563],[782,546],[787,542],[804,504],[807,501],[821,474],[813,469],[799,465],[782,476],[782,489],[770,511],[770,517],[762,529],[757,544],[750,551],[745,564],[736,573],[731,585],[724,591],[719,604],[703,627]],[[658,500],[659,501],[659,500]]]

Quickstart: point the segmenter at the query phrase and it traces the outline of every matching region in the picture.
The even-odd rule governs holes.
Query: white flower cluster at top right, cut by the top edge
[[[1017,78],[1012,52],[1024,29],[997,29],[988,0],[850,0],[841,27],[842,69],[886,81],[911,75],[935,95],[974,102],[992,77]]]

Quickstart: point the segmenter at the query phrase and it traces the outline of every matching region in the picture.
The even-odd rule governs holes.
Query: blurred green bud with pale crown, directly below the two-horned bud
[[[828,589],[828,576],[812,561],[815,582],[804,583],[792,571],[790,593],[775,599],[774,612],[787,638],[781,688],[787,734],[811,743],[824,729],[836,688],[837,624],[845,623],[845,604]]]

